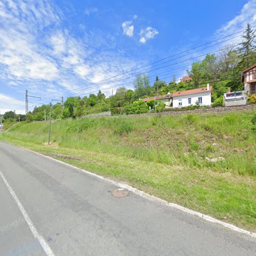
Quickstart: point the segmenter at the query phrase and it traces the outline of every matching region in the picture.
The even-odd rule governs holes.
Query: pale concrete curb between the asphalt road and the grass
[[[12,145],[14,145],[14,144],[12,144]],[[147,199],[147,200],[155,201],[155,202],[158,202],[158,203],[160,203],[160,204],[162,204],[162,205],[166,205],[166,206],[168,206],[168,207],[172,207],[172,208],[181,210],[181,211],[183,211],[183,212],[186,212],[186,214],[193,215],[193,216],[197,216],[197,217],[199,217],[199,218],[201,218],[201,219],[204,219],[204,220],[206,220],[206,221],[208,221],[208,222],[216,223],[216,224],[219,224],[219,225],[221,225],[221,226],[223,226],[223,227],[229,228],[229,229],[231,229],[231,230],[233,230],[233,231],[246,234],[246,235],[248,235],[248,236],[250,236],[250,237],[252,237],[252,238],[256,238],[256,233],[253,233],[253,232],[250,232],[250,231],[248,231],[248,230],[245,230],[245,229],[239,228],[239,227],[237,227],[237,226],[234,226],[234,225],[232,225],[232,224],[229,224],[229,223],[220,221],[220,220],[215,219],[215,218],[212,218],[212,217],[210,217],[210,216],[208,216],[208,215],[204,215],[204,214],[202,214],[201,212],[188,209],[188,208],[183,207],[183,206],[181,206],[181,205],[179,205],[179,204],[167,202],[167,201],[165,201],[165,200],[163,200],[163,199],[161,199],[161,198],[158,198],[158,197],[152,196],[152,195],[150,195],[150,194],[147,194],[147,193],[143,192],[142,190],[139,190],[139,189],[137,189],[137,188],[135,188],[135,187],[132,187],[132,186],[130,186],[130,185],[127,185],[127,184],[125,184],[125,183],[117,182],[117,181],[115,181],[115,180],[112,180],[112,179],[109,179],[109,178],[105,178],[105,177],[100,176],[100,175],[98,175],[98,174],[91,173],[91,172],[89,172],[88,170],[81,169],[81,168],[76,167],[76,166],[74,166],[74,165],[71,165],[71,164],[69,164],[69,163],[65,163],[65,162],[62,162],[62,161],[57,160],[57,159],[55,159],[55,158],[52,158],[52,157],[50,157],[50,156],[46,156],[46,155],[40,154],[40,153],[38,153],[38,152],[29,150],[29,149],[26,148],[26,147],[19,146],[19,145],[15,145],[15,146],[18,146],[18,147],[20,147],[20,148],[23,148],[24,150],[30,151],[30,152],[32,152],[32,153],[34,153],[34,154],[39,155],[39,156],[42,156],[42,157],[45,157],[45,158],[54,160],[54,161],[59,162],[59,163],[61,163],[61,164],[65,164],[65,165],[67,165],[67,166],[69,166],[69,167],[72,167],[72,168],[77,169],[77,170],[79,170],[79,171],[82,171],[82,172],[84,172],[84,173],[86,173],[86,174],[89,174],[90,176],[94,176],[94,177],[96,177],[96,178],[98,178],[98,179],[101,179],[101,180],[104,180],[104,181],[108,181],[108,182],[110,182],[110,183],[112,183],[112,184],[114,184],[114,185],[116,185],[116,186],[118,186],[118,187],[126,188],[126,189],[128,189],[129,191],[131,191],[132,193],[134,193],[134,194],[136,194],[136,195],[138,195],[138,196],[140,196],[140,197],[142,197],[142,198],[145,198],[145,199]]]

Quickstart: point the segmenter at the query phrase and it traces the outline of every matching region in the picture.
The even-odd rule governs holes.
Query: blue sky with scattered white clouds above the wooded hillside
[[[151,63],[255,26],[255,13],[256,0],[0,0],[0,112],[24,113],[25,90],[42,98],[30,98],[32,110],[62,95],[132,89],[143,71],[152,81],[179,79],[199,55],[239,38]]]

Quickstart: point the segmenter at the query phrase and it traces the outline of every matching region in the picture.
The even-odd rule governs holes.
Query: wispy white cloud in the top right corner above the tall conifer
[[[218,38],[244,30],[248,23],[251,26],[256,25],[256,0],[249,0],[237,16],[216,31],[215,36]],[[229,43],[237,43],[237,40],[237,38],[231,39]]]

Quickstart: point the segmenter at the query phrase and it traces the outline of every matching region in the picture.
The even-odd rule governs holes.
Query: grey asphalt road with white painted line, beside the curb
[[[256,242],[0,142],[1,255],[256,255]]]

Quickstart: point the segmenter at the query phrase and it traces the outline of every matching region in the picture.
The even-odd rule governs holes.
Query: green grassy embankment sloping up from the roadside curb
[[[20,123],[1,140],[256,231],[255,111]],[[209,162],[205,158],[225,158]]]

